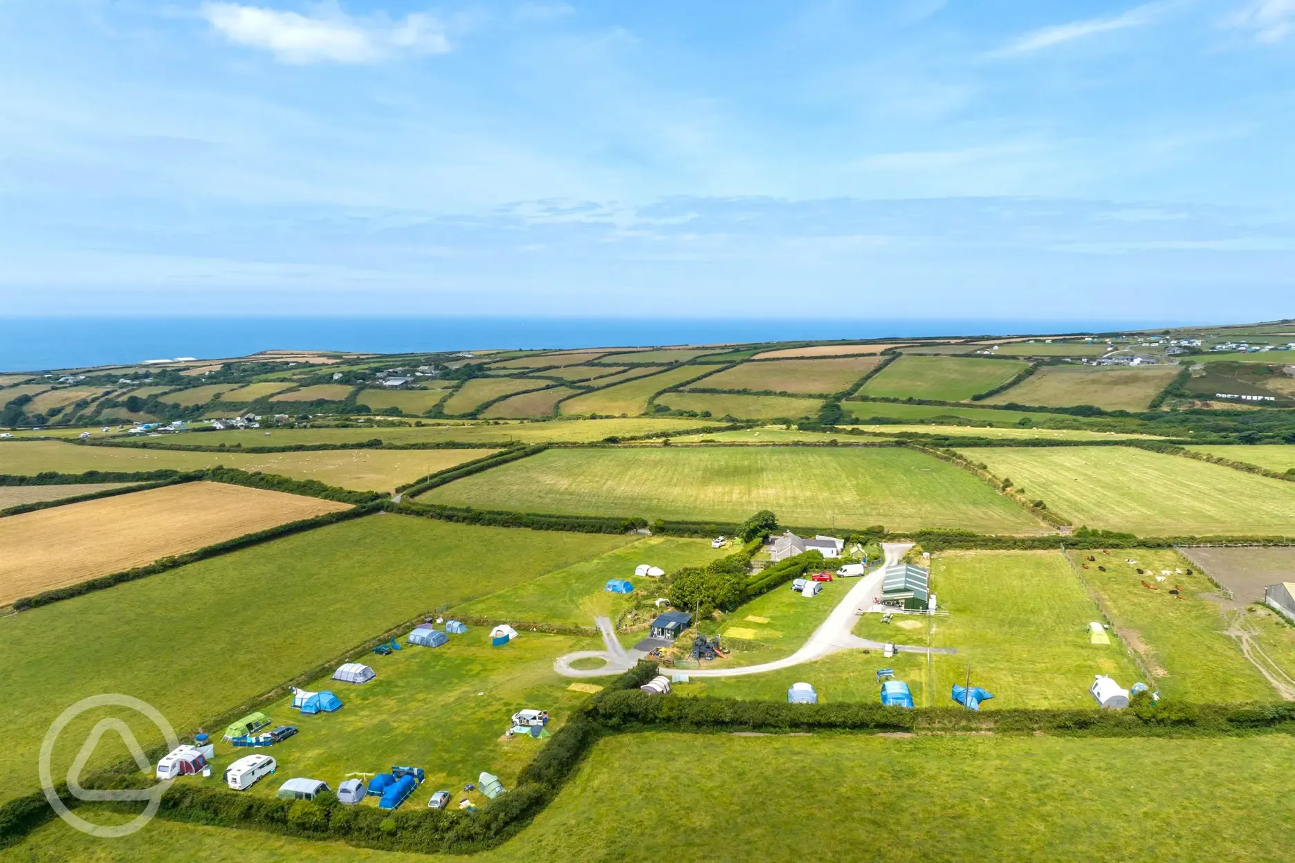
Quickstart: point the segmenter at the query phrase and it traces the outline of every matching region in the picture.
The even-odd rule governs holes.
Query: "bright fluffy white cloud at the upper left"
[[[440,23],[422,13],[403,21],[354,18],[335,3],[311,16],[237,3],[203,3],[199,12],[231,41],[271,50],[286,63],[376,63],[404,53],[449,50]]]

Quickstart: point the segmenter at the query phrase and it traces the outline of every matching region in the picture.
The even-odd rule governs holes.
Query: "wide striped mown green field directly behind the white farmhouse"
[[[971,474],[899,448],[548,450],[420,499],[491,510],[721,521],[741,521],[769,508],[786,524],[811,527],[835,520],[837,527],[884,524],[895,530],[1042,529]]]

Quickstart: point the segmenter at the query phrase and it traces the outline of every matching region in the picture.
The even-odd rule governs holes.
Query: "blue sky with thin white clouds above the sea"
[[[0,314],[1295,316],[1295,0],[0,0]]]

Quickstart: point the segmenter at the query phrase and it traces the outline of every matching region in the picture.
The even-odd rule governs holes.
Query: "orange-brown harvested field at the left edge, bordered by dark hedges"
[[[346,508],[299,494],[183,483],[13,515],[0,519],[0,603]]]

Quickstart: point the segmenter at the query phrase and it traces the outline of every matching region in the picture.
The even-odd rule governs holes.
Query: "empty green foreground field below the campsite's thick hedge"
[[[124,838],[54,820],[0,851],[4,863],[164,859],[707,860],[1283,860],[1295,740],[877,735],[628,734],[600,741],[557,800],[504,846],[471,857],[383,854],[269,833],[154,820]],[[680,779],[680,774],[685,778]],[[1136,778],[1136,780],[1133,779]],[[680,805],[684,783],[689,801]],[[874,806],[829,805],[864,788]],[[789,816],[789,801],[822,796]],[[903,806],[904,818],[897,818]],[[110,814],[96,813],[102,823]],[[126,820],[126,815],[119,816]],[[670,829],[662,829],[670,824]],[[1263,824],[1257,829],[1256,824]],[[739,825],[739,832],[736,828]]]

